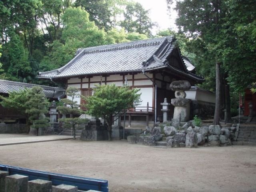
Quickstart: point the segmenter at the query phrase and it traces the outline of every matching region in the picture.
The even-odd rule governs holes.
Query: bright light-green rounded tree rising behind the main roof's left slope
[[[56,69],[68,63],[78,48],[106,44],[104,30],[99,30],[89,20],[89,14],[81,7],[66,8],[63,15],[61,40],[50,44],[50,51],[41,61],[43,70]]]

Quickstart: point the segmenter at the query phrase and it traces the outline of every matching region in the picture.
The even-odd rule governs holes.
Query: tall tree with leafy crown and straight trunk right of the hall
[[[201,39],[208,52],[212,52],[212,46],[216,45],[216,37],[219,35],[222,18],[225,16],[226,5],[222,0],[178,0],[176,3],[178,18],[176,24],[181,32],[189,38]],[[216,71],[216,103],[214,124],[220,122],[220,65],[218,57],[213,58]],[[212,62],[212,64],[214,63]]]

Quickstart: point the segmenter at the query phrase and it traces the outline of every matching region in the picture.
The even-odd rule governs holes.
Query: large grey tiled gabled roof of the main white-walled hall
[[[180,55],[182,69],[171,66],[166,60],[175,48],[172,37],[154,38],[120,44],[79,49],[65,66],[40,72],[38,78],[68,78],[83,75],[141,72],[169,68],[200,82],[203,78],[190,73]],[[146,63],[146,66],[142,65]]]

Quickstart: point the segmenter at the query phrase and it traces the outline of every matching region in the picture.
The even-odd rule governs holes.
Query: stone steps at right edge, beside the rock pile
[[[256,143],[256,124],[240,124],[237,141]]]

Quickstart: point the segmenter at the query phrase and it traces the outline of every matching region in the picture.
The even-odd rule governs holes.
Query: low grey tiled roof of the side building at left
[[[26,88],[40,86],[44,89],[44,94],[47,98],[59,98],[65,95],[65,90],[59,87],[50,87],[36,84],[21,83],[8,80],[0,80],[0,93],[9,93],[11,91],[19,91]]]

